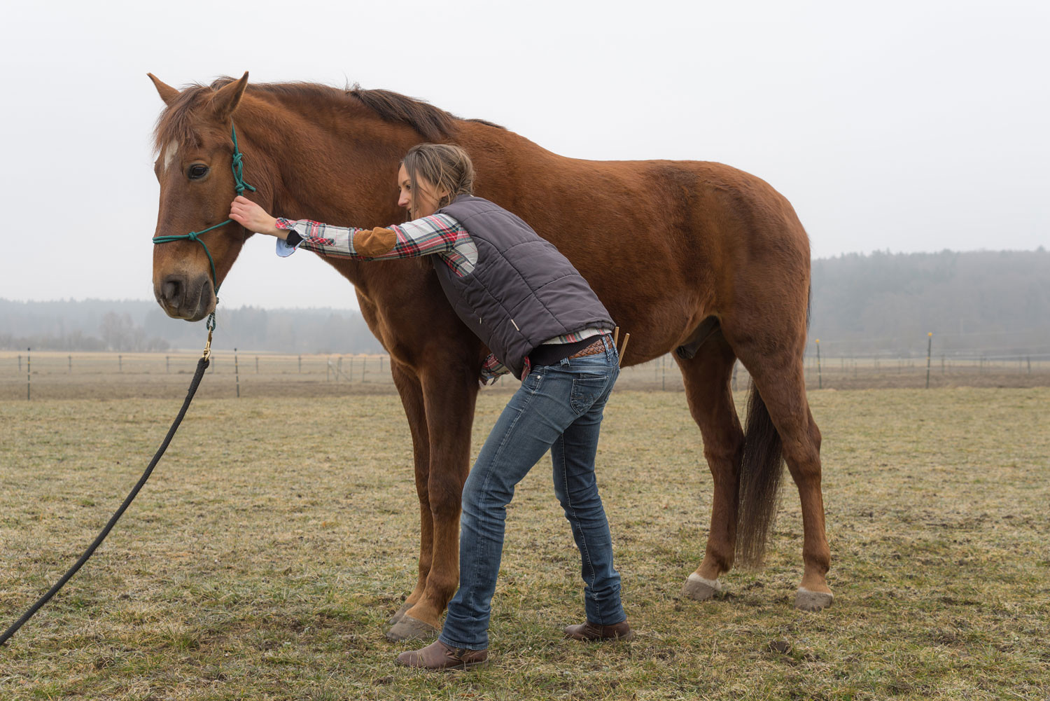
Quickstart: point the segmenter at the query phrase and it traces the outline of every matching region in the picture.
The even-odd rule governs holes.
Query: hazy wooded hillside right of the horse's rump
[[[1050,352],[1050,252],[847,254],[813,262],[813,339],[832,354]]]

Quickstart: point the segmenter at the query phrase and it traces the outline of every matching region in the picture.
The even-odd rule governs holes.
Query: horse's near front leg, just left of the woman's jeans
[[[429,462],[425,486],[417,482],[425,524],[430,523],[428,571],[422,590],[387,632],[391,640],[425,639],[440,632],[445,606],[459,585],[459,517],[463,482],[469,472],[470,428],[478,396],[478,378],[470,370],[421,373]],[[417,479],[420,473],[417,470]],[[423,495],[425,495],[425,502]],[[425,550],[425,545],[421,552]],[[408,603],[406,601],[405,603]]]

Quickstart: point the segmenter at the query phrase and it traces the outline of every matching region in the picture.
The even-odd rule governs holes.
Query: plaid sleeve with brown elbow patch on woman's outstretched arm
[[[386,227],[396,234],[393,247],[384,253],[363,255],[357,252],[354,242],[372,229],[332,226],[308,219],[298,221],[277,219],[276,226],[278,229],[298,233],[302,239],[299,246],[308,250],[321,255],[358,261],[387,261],[446,253],[452,251],[461,239],[469,238],[466,229],[454,218],[448,214],[432,214]]]

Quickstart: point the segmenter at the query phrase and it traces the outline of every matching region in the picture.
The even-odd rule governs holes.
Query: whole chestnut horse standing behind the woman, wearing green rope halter
[[[760,563],[786,460],[804,532],[795,602],[806,610],[832,602],[820,431],[802,367],[810,244],[791,204],[770,185],[718,163],[564,158],[495,124],[387,90],[249,85],[245,74],[180,91],[150,78],[167,105],[155,131],[155,235],[227,218],[234,117],[245,180],[257,188],[249,197],[290,219],[361,227],[403,221],[394,185],[408,148],[423,141],[465,148],[477,193],[552,242],[630,332],[628,365],[675,351],[714,480],[707,551],[684,593],[702,600],[720,591],[718,577],[734,556]],[[203,234],[217,282],[250,235],[235,223]],[[460,496],[488,350],[456,316],[426,259],[324,261],[353,283],[362,315],[390,353],[412,433],[419,578],[387,636],[433,635],[459,578]],[[202,246],[156,245],[153,290],[170,316],[209,314],[215,295]],[[747,432],[730,392],[737,358],[753,378]]]

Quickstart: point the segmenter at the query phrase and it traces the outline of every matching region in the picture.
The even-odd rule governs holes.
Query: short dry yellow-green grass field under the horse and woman
[[[475,453],[505,398],[483,393]],[[180,400],[0,403],[0,625],[94,536]],[[582,582],[542,462],[509,509],[491,663],[434,675],[396,667],[405,645],[383,638],[417,552],[397,397],[205,397],[94,558],[0,648],[0,699],[1048,698],[1050,390],[811,403],[830,610],[792,609],[790,487],[766,568],[679,598],[711,504],[699,434],[680,393],[618,390],[598,474],[638,637],[562,639]]]

